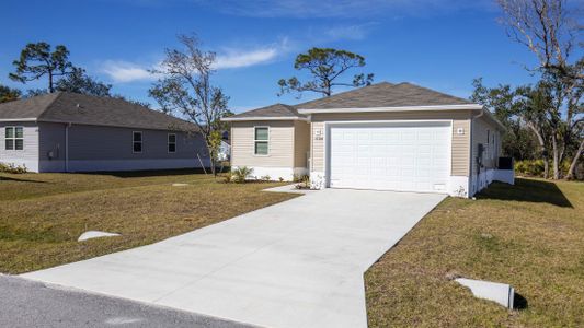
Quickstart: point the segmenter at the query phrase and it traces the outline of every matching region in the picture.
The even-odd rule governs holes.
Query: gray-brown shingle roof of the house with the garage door
[[[298,116],[297,109],[374,108],[402,106],[467,105],[470,101],[412,83],[381,82],[295,106],[276,104],[232,117]]]

